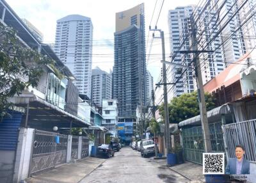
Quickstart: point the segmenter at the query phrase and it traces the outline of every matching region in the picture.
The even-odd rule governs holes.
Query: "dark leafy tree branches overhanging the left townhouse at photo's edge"
[[[22,44],[15,30],[0,23],[0,121],[13,106],[8,99],[37,86],[43,65],[50,63],[49,57]]]

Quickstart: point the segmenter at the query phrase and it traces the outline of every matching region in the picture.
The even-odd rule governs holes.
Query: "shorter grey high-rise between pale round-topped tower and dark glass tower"
[[[92,101],[102,106],[102,99],[112,97],[112,73],[108,74],[99,67],[92,70]]]

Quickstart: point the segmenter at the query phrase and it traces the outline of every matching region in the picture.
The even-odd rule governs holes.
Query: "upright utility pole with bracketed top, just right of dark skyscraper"
[[[160,37],[154,38],[161,38],[162,40],[162,62],[163,62],[163,85],[164,85],[164,122],[165,122],[165,130],[164,130],[164,136],[165,136],[165,154],[170,153],[170,132],[169,132],[169,111],[168,111],[168,97],[167,97],[167,83],[166,83],[166,66],[165,66],[165,48],[164,48],[164,31],[161,31],[161,29],[151,29],[150,31],[159,31]]]

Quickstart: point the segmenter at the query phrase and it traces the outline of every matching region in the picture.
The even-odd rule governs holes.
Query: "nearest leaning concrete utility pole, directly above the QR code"
[[[204,97],[204,85],[202,80],[202,72],[200,68],[200,59],[199,59],[199,52],[197,47],[197,40],[196,40],[196,24],[194,22],[193,16],[191,16],[191,25],[194,24],[194,27],[191,28],[192,30],[192,45],[193,51],[195,51],[195,71],[196,71],[196,81],[197,81],[197,90],[198,90],[198,100],[199,100],[199,109],[200,109],[200,116],[201,116],[201,124],[204,134],[204,147],[205,152],[211,152],[211,138],[210,138],[210,131],[209,131],[209,124],[207,118],[207,111],[205,105],[205,97]]]

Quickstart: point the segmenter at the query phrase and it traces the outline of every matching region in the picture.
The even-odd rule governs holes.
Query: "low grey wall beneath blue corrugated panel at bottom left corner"
[[[12,182],[15,151],[0,150],[0,182]]]

